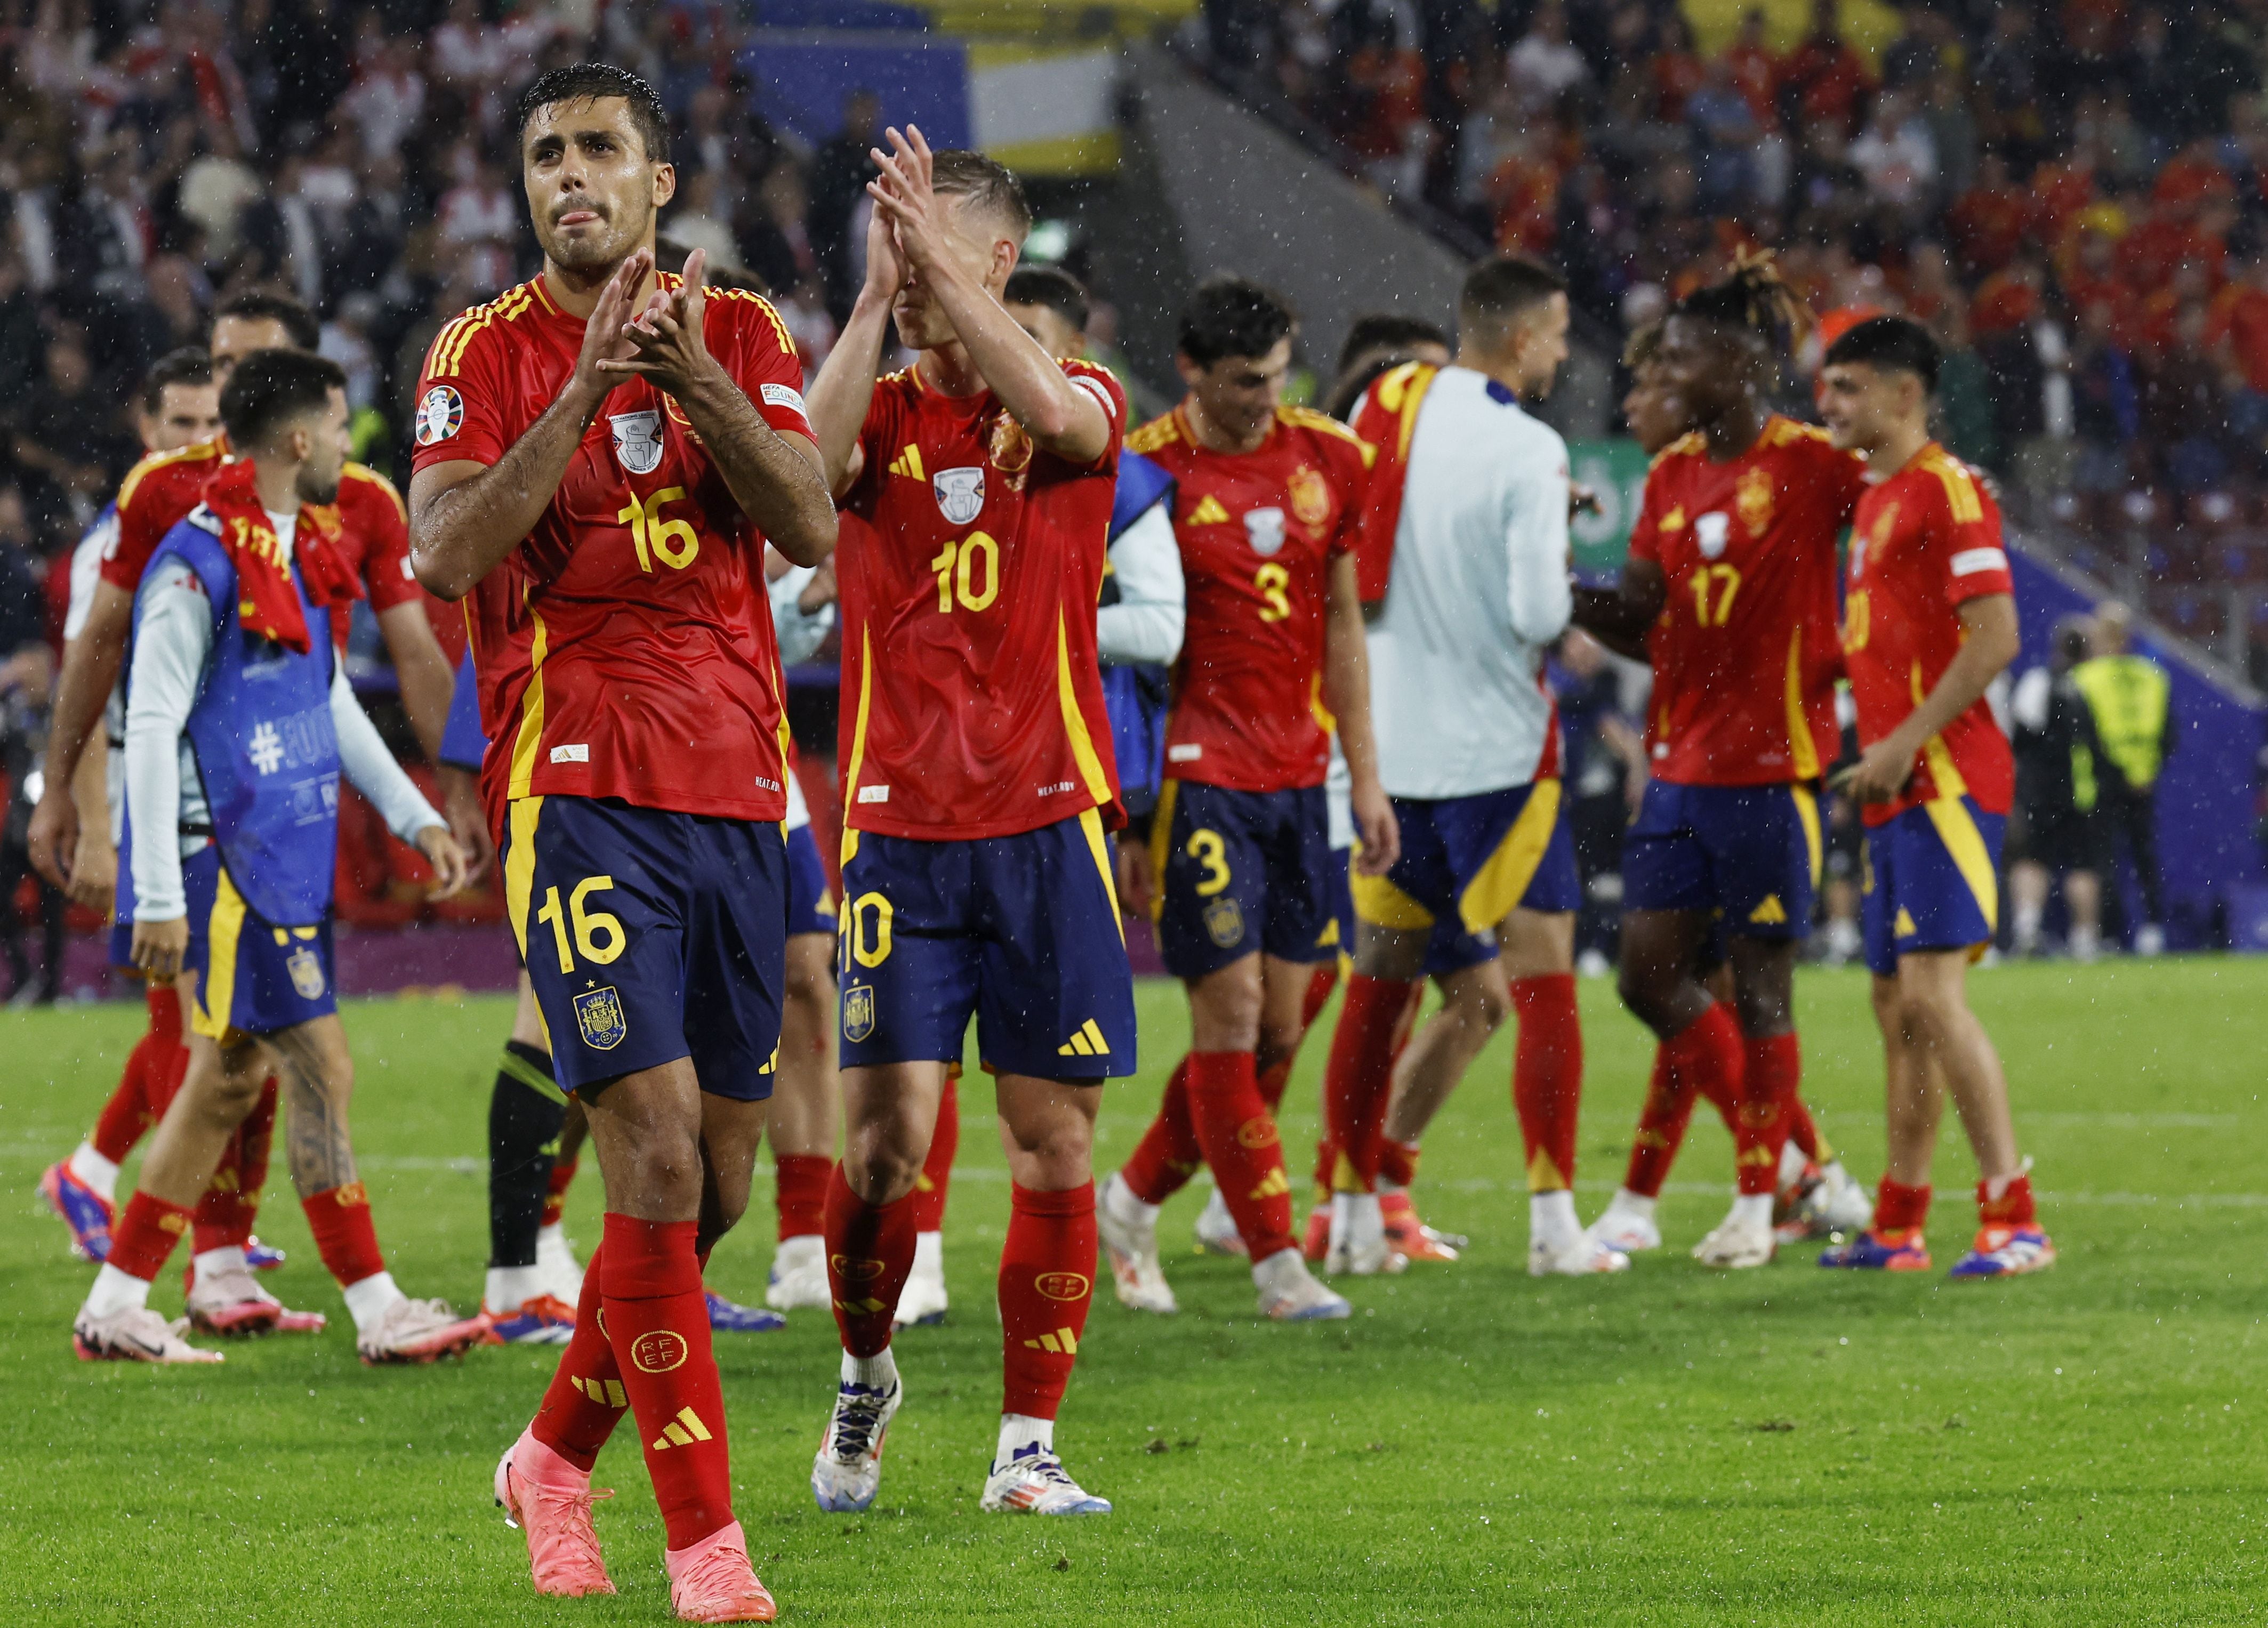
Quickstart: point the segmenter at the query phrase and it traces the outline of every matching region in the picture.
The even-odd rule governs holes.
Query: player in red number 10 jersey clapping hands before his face
[[[914,129],[889,143],[866,281],[814,385],[828,476],[873,531],[837,556],[848,1131],[828,1272],[844,1365],[812,1492],[862,1510],[880,1483],[914,1181],[975,1016],[1014,1181],[982,1508],[1105,1515],[1064,1469],[1055,1415],[1093,1297],[1098,1086],[1134,1070],[1095,667],[1125,397],[1000,306],[1032,222],[1016,177]],[[875,383],[889,320],[919,363]]]

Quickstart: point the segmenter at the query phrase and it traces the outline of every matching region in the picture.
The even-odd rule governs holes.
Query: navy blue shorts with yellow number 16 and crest
[[[776,823],[519,798],[499,859],[560,1086],[689,1057],[712,1095],[771,1095],[787,984]]]

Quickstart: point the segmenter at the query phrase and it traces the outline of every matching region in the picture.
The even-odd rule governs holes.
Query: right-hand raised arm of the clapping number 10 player
[[[889,132],[889,156],[878,156],[882,170],[869,181],[875,213],[889,215],[898,229],[898,247],[914,274],[937,295],[953,336],[968,347],[984,383],[1000,397],[1025,433],[1046,451],[1070,465],[1091,465],[1111,449],[1116,426],[1109,408],[1073,383],[1039,340],[1016,327],[1007,308],[991,297],[953,254],[943,209],[930,188],[930,143],[907,125],[900,136]]]

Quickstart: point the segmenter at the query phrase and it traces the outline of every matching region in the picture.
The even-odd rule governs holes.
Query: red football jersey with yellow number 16
[[[767,424],[810,438],[796,342],[764,299],[712,288],[703,338]],[[501,458],[581,349],[583,320],[542,277],[456,317],[426,351],[417,467]],[[764,537],[649,381],[615,385],[535,531],[465,601],[465,626],[499,823],[510,798],[549,794],[787,816]]]

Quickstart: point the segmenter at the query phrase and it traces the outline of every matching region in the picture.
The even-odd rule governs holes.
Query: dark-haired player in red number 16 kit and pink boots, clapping
[[[835,546],[771,306],[653,268],[669,116],[635,75],[519,102],[544,270],[433,340],[411,483],[420,580],[465,599],[483,791],[551,1063],[606,1181],[574,1338],[497,1465],[535,1587],[610,1592],[590,1467],[624,1408],[689,1621],[769,1621],[733,1519],[701,1261],[748,1202],[780,1041],[785,678],[764,540]]]

